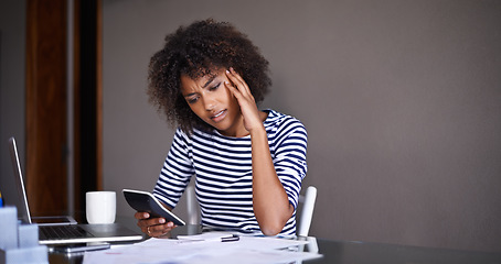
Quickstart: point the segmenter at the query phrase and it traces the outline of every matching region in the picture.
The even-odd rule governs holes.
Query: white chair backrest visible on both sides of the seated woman
[[[186,209],[188,209],[188,223],[200,224],[200,210],[196,202],[195,189],[193,186],[188,186],[186,195]],[[299,213],[299,226],[297,226],[297,235],[308,237],[313,218],[315,202],[317,200],[317,188],[309,186],[303,196],[299,196],[299,202],[302,204],[302,209]]]

